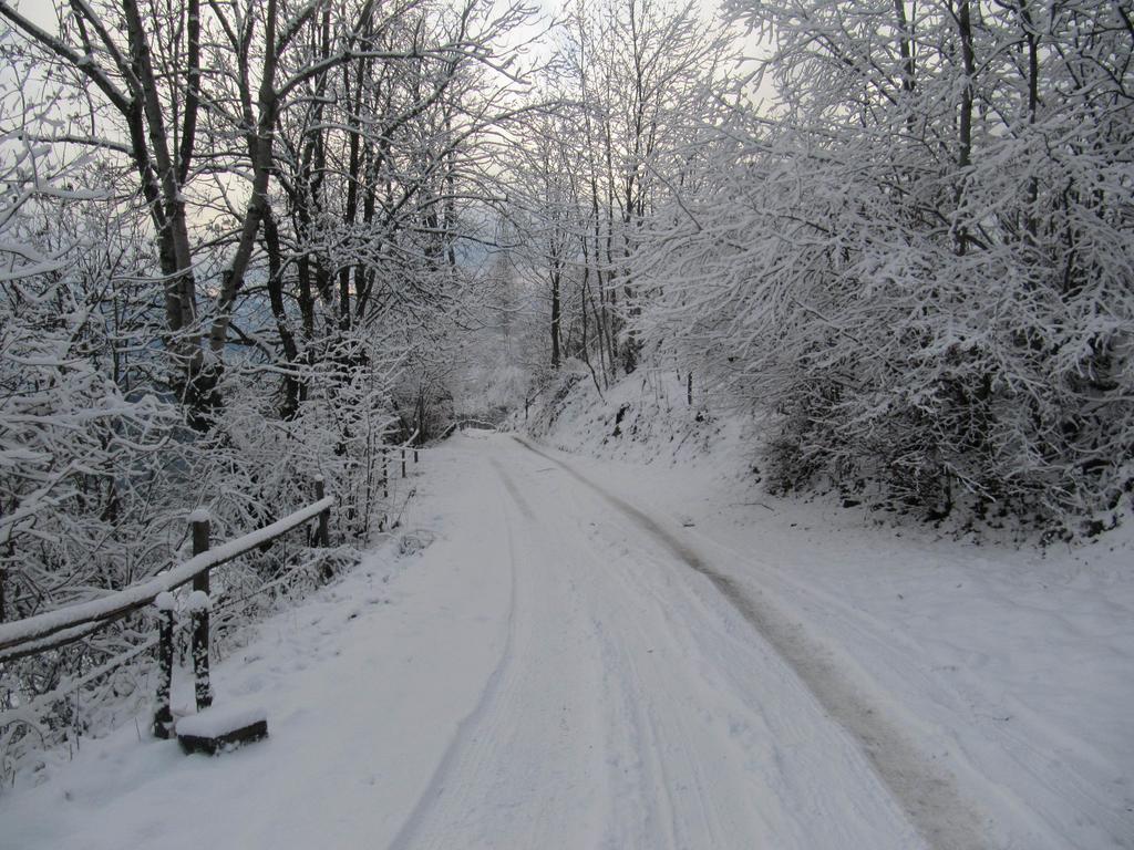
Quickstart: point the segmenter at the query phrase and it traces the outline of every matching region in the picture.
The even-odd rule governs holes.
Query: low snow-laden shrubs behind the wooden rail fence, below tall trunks
[[[5,198],[15,202],[0,210],[0,621],[167,569],[189,554],[187,517],[197,507],[210,509],[215,543],[254,530],[314,501],[316,475],[337,500],[332,541],[365,539],[381,508],[386,371],[327,358],[304,374],[305,398],[286,418],[273,365],[234,356],[211,427],[187,427],[154,342],[160,286],[130,216],[95,193],[9,178]],[[214,573],[214,639],[227,641],[252,607],[271,610],[280,594],[356,558],[352,545],[312,552],[297,533],[226,564]],[[284,580],[254,596],[269,578]],[[0,780],[144,712],[152,689],[142,649],[154,634],[142,611],[77,643],[0,661]]]

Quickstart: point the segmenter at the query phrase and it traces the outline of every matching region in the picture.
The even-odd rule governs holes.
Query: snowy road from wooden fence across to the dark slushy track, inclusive
[[[433,545],[219,665],[266,742],[87,742],[0,799],[0,847],[988,845],[948,771],[679,527],[509,436],[428,466]]]

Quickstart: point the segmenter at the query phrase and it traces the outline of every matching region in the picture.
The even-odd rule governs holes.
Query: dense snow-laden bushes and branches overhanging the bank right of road
[[[638,255],[659,284],[642,333],[777,415],[782,488],[1116,521],[1134,487],[1117,7],[734,6],[775,39],[780,120],[737,118],[718,177]]]

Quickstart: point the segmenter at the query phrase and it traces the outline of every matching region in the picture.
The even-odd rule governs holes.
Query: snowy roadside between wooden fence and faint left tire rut
[[[457,486],[460,471],[417,483],[404,521],[435,532],[431,545],[384,546],[214,665],[215,705],[264,706],[265,741],[186,757],[139,717],[141,731],[85,740],[44,784],[0,792],[0,848],[386,847],[506,635],[499,509]],[[181,670],[175,705],[192,699]]]

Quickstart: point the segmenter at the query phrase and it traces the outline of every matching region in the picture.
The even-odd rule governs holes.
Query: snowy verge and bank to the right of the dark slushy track
[[[1015,549],[777,499],[754,483],[739,420],[687,406],[665,373],[602,401],[581,381],[530,425],[764,601],[782,621],[769,630],[797,623],[807,652],[956,775],[992,818],[991,847],[1134,847],[1129,522]]]

